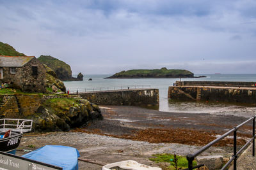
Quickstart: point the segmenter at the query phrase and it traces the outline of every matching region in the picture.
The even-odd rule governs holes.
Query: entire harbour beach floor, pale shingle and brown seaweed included
[[[70,132],[25,134],[17,154],[44,145],[66,145],[79,150],[79,169],[101,169],[104,164],[129,159],[157,166],[148,160],[152,154],[193,153],[247,119],[207,113],[168,113],[132,106],[100,106],[100,109],[104,120],[90,122],[86,127]],[[244,125],[238,133],[239,145],[245,143],[250,132],[250,124]],[[228,158],[232,155],[231,145],[232,139],[227,138],[202,155]]]

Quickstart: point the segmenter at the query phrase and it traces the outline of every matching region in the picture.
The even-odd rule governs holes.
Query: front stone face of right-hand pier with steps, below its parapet
[[[180,101],[256,103],[256,88],[169,87],[168,98]]]

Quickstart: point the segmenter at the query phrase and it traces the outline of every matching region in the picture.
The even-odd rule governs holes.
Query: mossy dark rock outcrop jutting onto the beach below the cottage
[[[62,104],[66,107],[63,107]],[[84,99],[48,99],[33,115],[36,131],[69,131],[102,119],[98,106]]]

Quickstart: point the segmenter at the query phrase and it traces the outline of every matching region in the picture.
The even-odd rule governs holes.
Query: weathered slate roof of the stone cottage
[[[0,67],[22,67],[35,56],[6,56],[0,55]]]

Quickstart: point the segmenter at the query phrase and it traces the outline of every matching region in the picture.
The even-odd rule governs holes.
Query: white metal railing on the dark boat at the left
[[[11,130],[13,132],[30,132],[33,120],[19,118],[2,118],[0,119],[0,132]]]

